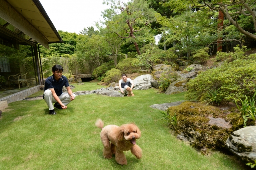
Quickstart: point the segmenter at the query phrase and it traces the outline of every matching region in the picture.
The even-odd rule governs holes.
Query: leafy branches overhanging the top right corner
[[[168,0],[165,6],[171,7],[174,12],[185,9],[200,9],[209,13],[222,11],[228,25],[232,24],[243,35],[256,40],[255,0]]]

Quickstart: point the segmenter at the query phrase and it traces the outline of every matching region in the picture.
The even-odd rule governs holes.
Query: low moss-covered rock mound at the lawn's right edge
[[[229,152],[226,139],[237,129],[243,127],[240,113],[234,107],[219,109],[206,106],[205,103],[183,102],[178,106],[169,107],[167,115],[176,118],[169,121],[169,127],[178,139],[189,141],[190,145],[202,153],[208,150]],[[231,112],[230,112],[231,111]]]

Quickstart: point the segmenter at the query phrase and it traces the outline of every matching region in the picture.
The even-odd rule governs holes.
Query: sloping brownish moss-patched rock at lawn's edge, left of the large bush
[[[178,79],[171,83],[167,90],[165,91],[165,94],[174,94],[174,93],[180,93],[187,91],[186,84],[188,80],[187,79]]]

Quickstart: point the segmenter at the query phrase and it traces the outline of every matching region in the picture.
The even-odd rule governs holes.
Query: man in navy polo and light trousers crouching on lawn
[[[44,100],[49,107],[49,114],[56,115],[54,107],[58,109],[67,109],[67,105],[75,99],[76,95],[69,87],[68,79],[62,75],[63,67],[55,65],[52,67],[52,76],[45,80]],[[62,88],[65,85],[67,93],[62,93]],[[53,103],[54,106],[52,105]]]

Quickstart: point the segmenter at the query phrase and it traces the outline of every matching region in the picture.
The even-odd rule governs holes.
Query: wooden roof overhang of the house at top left
[[[30,36],[33,43],[49,48],[50,43],[62,42],[39,0],[0,0],[0,4],[0,17]]]

